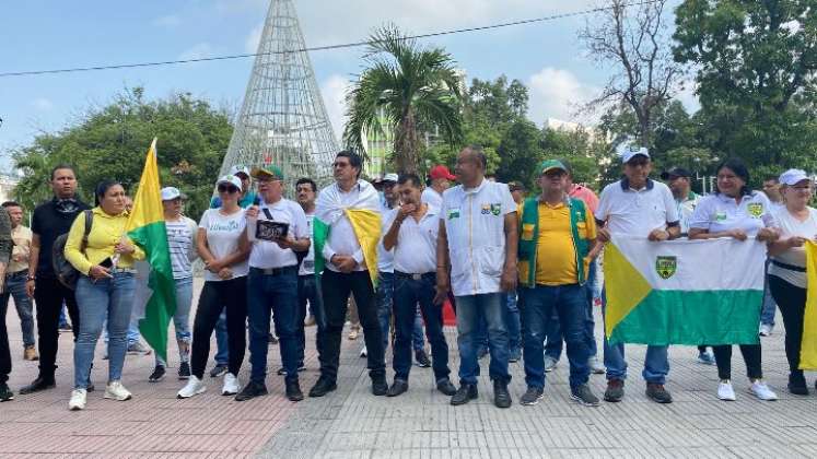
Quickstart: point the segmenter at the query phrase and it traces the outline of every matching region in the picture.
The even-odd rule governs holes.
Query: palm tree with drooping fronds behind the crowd
[[[366,132],[394,132],[397,172],[416,173],[419,125],[436,126],[448,143],[463,137],[460,82],[454,60],[441,48],[420,47],[394,25],[375,31],[363,56],[367,68],[347,94],[343,141],[366,155]]]

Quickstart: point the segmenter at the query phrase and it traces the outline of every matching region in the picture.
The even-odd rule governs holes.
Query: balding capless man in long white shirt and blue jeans
[[[478,146],[457,155],[462,185],[443,193],[436,252],[436,295],[441,304],[450,290],[457,303],[460,386],[454,405],[478,397],[477,330],[488,322],[490,376],[494,404],[511,407],[507,382],[509,346],[502,297],[516,287],[516,203],[507,185],[485,177],[487,158]]]

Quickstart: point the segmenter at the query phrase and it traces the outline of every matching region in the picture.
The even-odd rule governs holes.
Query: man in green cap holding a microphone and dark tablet
[[[246,237],[253,245],[249,254],[247,278],[247,318],[249,321],[249,363],[253,367],[249,382],[235,396],[236,401],[267,395],[264,380],[267,376],[270,311],[279,333],[281,363],[285,372],[287,398],[303,400],[297,384],[297,360],[301,348],[297,339],[297,256],[310,249],[306,215],[296,202],[283,198],[283,174],[276,166],[254,168],[258,191],[264,202],[247,210]],[[257,220],[257,222],[256,222]],[[260,222],[275,223],[275,228],[285,232],[265,237],[257,229]],[[249,227],[256,225],[257,228]],[[285,227],[284,227],[285,225]],[[273,225],[269,225],[273,226]],[[255,231],[254,231],[255,229]]]

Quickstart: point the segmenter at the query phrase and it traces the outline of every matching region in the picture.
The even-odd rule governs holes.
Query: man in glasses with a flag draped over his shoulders
[[[326,242],[322,242],[320,254],[326,261],[322,273],[320,289],[326,310],[326,342],[323,346],[320,377],[310,390],[310,397],[323,397],[337,389],[340,360],[340,333],[346,321],[349,295],[354,295],[358,316],[363,326],[363,338],[367,349],[369,375],[372,378],[372,393],[385,396],[386,363],[383,357],[383,332],[377,321],[377,307],[374,301],[374,280],[365,260],[366,251],[376,251],[380,239],[360,239],[350,220],[351,212],[360,220],[376,220],[380,236],[380,200],[372,184],[361,180],[363,160],[357,153],[342,151],[332,164],[335,184],[320,190],[315,208],[315,216],[329,226]],[[376,219],[373,216],[376,215]],[[375,222],[371,222],[375,224]],[[361,232],[362,233],[362,232]],[[362,237],[362,235],[361,235]],[[316,258],[318,256],[317,237]],[[361,240],[370,244],[361,246]],[[371,245],[371,244],[374,245]],[[317,260],[316,260],[317,261]],[[376,261],[375,261],[376,262]],[[376,268],[376,267],[375,267]]]

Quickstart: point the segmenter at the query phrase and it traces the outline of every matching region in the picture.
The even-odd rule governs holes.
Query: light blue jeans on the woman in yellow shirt
[[[82,275],[77,282],[77,304],[80,309],[80,333],[73,349],[73,385],[85,389],[94,362],[94,349],[108,318],[108,382],[120,380],[125,354],[128,351],[128,326],[133,308],[133,274],[115,272],[110,279],[96,282]]]

